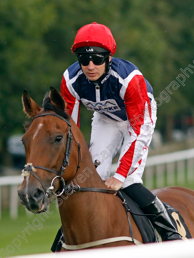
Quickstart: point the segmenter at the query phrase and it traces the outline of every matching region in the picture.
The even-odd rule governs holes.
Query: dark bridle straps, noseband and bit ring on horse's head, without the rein
[[[63,185],[65,185],[65,182],[64,182],[64,179],[62,178],[62,176],[63,176],[63,172],[64,172],[66,166],[69,166],[69,158],[70,158],[70,154],[71,154],[72,140],[73,140],[73,138],[74,138],[74,140],[75,140],[75,137],[74,137],[74,135],[73,135],[73,133],[72,133],[72,131],[71,131],[71,123],[70,123],[69,121],[67,121],[63,116],[60,116],[60,115],[57,115],[57,114],[54,114],[54,113],[45,113],[45,114],[40,114],[40,115],[34,116],[33,120],[34,120],[35,118],[39,117],[39,116],[45,116],[45,115],[54,115],[54,116],[56,116],[56,117],[59,117],[60,119],[62,119],[63,121],[65,121],[65,122],[67,123],[67,125],[68,125],[67,143],[66,143],[65,156],[64,156],[63,164],[62,164],[62,166],[61,166],[61,170],[59,171],[59,173],[56,172],[55,170],[52,170],[52,169],[49,169],[49,168],[46,168],[46,167],[43,167],[43,166],[34,166],[34,165],[33,165],[33,167],[34,167],[34,168],[40,168],[40,169],[47,170],[47,171],[49,171],[49,172],[55,173],[55,174],[57,175],[55,178],[59,178],[60,180],[62,180]],[[33,120],[32,120],[32,121],[33,121]],[[72,136],[73,136],[73,138],[72,138]],[[77,143],[77,146],[78,146],[78,166],[77,166],[77,170],[76,170],[76,172],[77,172],[78,169],[80,168],[80,166],[79,166],[79,159],[80,159],[81,162],[82,162],[82,157],[81,157],[81,151],[80,151],[80,148],[81,148],[80,143],[78,143],[76,140],[75,140],[75,142]],[[38,181],[39,181],[39,182],[41,183],[41,185],[42,185],[42,188],[43,188],[43,190],[44,190],[46,196],[48,196],[48,194],[47,194],[47,191],[48,191],[48,190],[51,191],[53,194],[55,194],[55,193],[53,192],[54,187],[53,187],[53,185],[52,185],[52,184],[53,184],[53,181],[55,180],[55,178],[53,178],[53,180],[52,180],[52,182],[51,182],[51,186],[50,186],[49,189],[47,190],[47,189],[45,189],[45,187],[43,186],[43,184],[42,184],[40,178],[34,173],[34,171],[33,171],[31,165],[26,166],[26,167],[24,168],[24,171],[29,172],[29,173],[32,174],[35,178],[38,179]],[[55,195],[59,196],[59,195],[61,195],[63,192],[64,192],[64,189],[62,190],[62,192],[61,192],[60,194],[55,194]]]

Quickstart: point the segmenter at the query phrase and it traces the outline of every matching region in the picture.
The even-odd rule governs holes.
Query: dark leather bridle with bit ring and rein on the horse
[[[43,166],[27,165],[27,166],[24,168],[24,171],[29,172],[29,173],[32,174],[36,179],[38,179],[38,181],[39,181],[39,182],[41,183],[41,185],[42,185],[42,188],[43,188],[43,190],[44,190],[46,196],[48,197],[48,193],[49,193],[49,192],[52,192],[52,193],[53,193],[54,195],[56,195],[56,196],[60,196],[60,195],[62,195],[62,194],[64,193],[64,191],[65,191],[66,189],[67,189],[67,190],[72,190],[72,191],[74,191],[74,192],[76,192],[76,193],[79,192],[79,191],[93,191],[93,192],[103,192],[103,193],[113,193],[113,194],[115,194],[115,193],[117,192],[117,190],[113,190],[113,189],[102,189],[102,188],[92,188],[92,187],[80,187],[80,186],[78,186],[78,185],[73,185],[73,183],[70,183],[69,185],[65,185],[65,181],[64,181],[64,179],[63,179],[62,176],[63,176],[63,173],[64,173],[64,170],[65,170],[66,166],[69,166],[69,159],[70,159],[70,154],[71,154],[72,140],[73,140],[73,139],[75,140],[75,137],[74,137],[74,135],[73,135],[73,133],[72,133],[72,131],[71,131],[71,123],[70,123],[69,121],[67,121],[67,120],[66,120],[63,116],[61,116],[61,115],[58,115],[58,114],[55,114],[55,113],[44,113],[44,114],[40,114],[40,115],[34,116],[33,120],[34,120],[35,118],[39,117],[39,116],[45,116],[45,115],[54,115],[54,116],[56,116],[56,117],[62,119],[63,121],[65,121],[65,122],[67,123],[67,125],[68,125],[66,151],[65,151],[65,155],[64,155],[64,159],[63,159],[63,164],[62,164],[62,166],[61,166],[61,170],[59,171],[59,173],[56,172],[55,170],[52,170],[52,169],[49,169],[49,168],[43,167]],[[32,120],[32,121],[33,121],[33,120]],[[73,137],[72,137],[72,136],[73,136]],[[77,165],[77,170],[76,170],[76,173],[77,173],[78,169],[80,168],[80,166],[79,166],[80,160],[81,160],[81,162],[82,162],[82,157],[81,157],[81,151],[80,151],[80,149],[81,149],[80,143],[77,142],[76,140],[75,140],[75,142],[76,142],[76,144],[77,144],[77,146],[78,146],[78,165]],[[53,178],[53,180],[52,180],[52,182],[51,182],[51,186],[50,186],[48,189],[46,189],[46,188],[44,187],[44,185],[43,185],[41,179],[34,173],[33,167],[34,167],[34,168],[40,168],[40,169],[43,169],[43,170],[46,170],[46,171],[55,173],[55,174],[57,175],[57,176],[55,176],[55,177]],[[62,184],[63,184],[62,189],[60,189],[60,190],[62,190],[62,191],[61,191],[61,193],[59,193],[59,194],[56,194],[56,193],[54,192],[53,182],[54,182],[55,178],[59,178],[60,181],[62,181]],[[59,189],[58,189],[58,190],[59,190]]]

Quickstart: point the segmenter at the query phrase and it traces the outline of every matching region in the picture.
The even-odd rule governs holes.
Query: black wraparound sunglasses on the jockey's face
[[[104,54],[77,54],[78,61],[81,65],[87,66],[89,65],[90,61],[92,61],[95,65],[102,65],[106,58],[109,57],[109,53]]]

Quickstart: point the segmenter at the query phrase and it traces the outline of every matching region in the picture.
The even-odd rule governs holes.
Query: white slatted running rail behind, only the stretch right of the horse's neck
[[[113,164],[111,175],[116,169]],[[142,179],[148,189],[194,183],[194,148],[148,157]]]

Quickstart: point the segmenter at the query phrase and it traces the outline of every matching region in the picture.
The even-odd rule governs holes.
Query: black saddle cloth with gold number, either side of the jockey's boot
[[[131,213],[131,216],[133,217],[140,233],[143,239],[143,243],[154,243],[158,240],[156,238],[160,238],[158,236],[158,233],[156,230],[153,229],[153,226],[151,225],[151,222],[146,216],[141,216],[144,213],[142,210],[139,208],[139,206],[130,198],[126,193],[123,192],[123,190],[119,190],[117,195],[120,197],[122,201],[127,203],[127,207],[130,209],[129,212]],[[192,238],[191,234],[188,230],[187,225],[184,222],[183,217],[180,215],[179,211],[173,208],[171,205],[168,203],[163,202],[168,215],[175,226],[176,230],[180,233],[180,235],[183,237],[183,239],[188,239]],[[141,214],[141,215],[135,215],[136,214]]]

